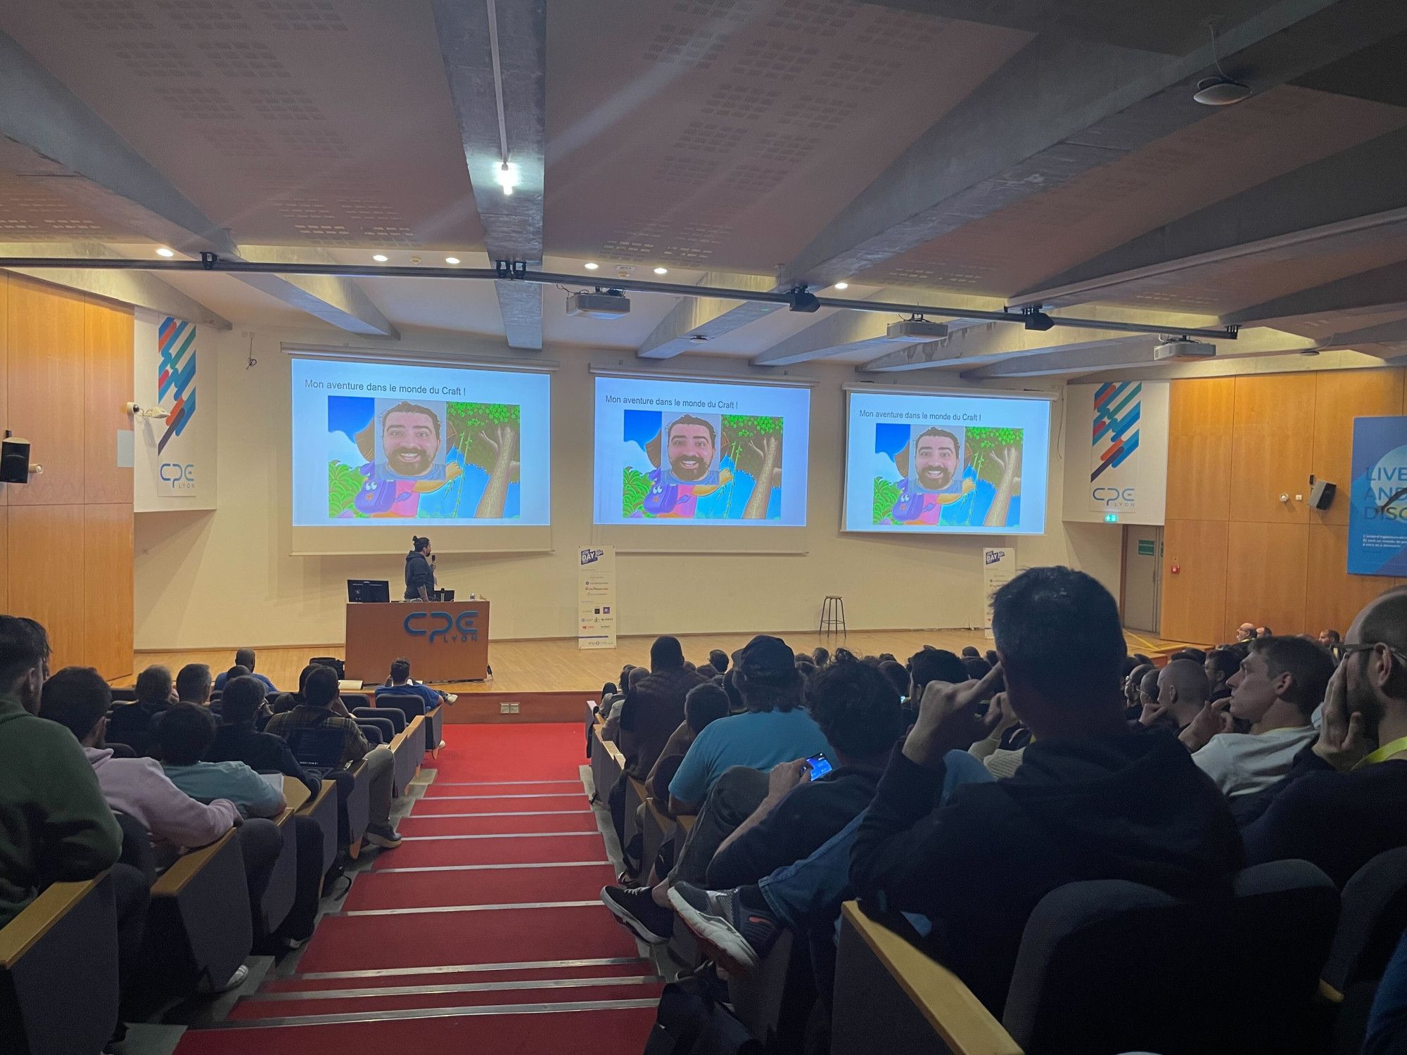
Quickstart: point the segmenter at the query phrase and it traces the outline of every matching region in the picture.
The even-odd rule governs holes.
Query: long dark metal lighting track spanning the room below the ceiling
[[[342,263],[265,263],[256,260],[224,260],[214,253],[204,255],[200,260],[121,260],[103,257],[63,257],[63,256],[6,256],[0,257],[0,269],[87,269],[103,271],[224,271],[228,274],[328,274],[343,279],[469,279],[476,281],[494,281],[511,279],[514,281],[533,283],[537,286],[580,286],[599,290],[632,290],[636,293],[664,293],[674,297],[712,297],[715,300],[747,301],[753,304],[791,304],[789,293],[758,293],[754,290],[729,290],[701,286],[682,286],[678,283],[651,283],[639,279],[611,279],[595,280],[582,279],[580,274],[559,274],[556,271],[528,271],[504,267],[428,267],[428,266],[391,266],[391,264],[342,264]],[[822,307],[843,308],[846,311],[868,311],[882,315],[936,315],[950,319],[981,319],[983,322],[1010,322],[1017,326],[1026,324],[1026,315],[1019,311],[974,311],[972,308],[950,308],[941,304],[893,304],[889,301],[861,301],[844,300],[840,297],[817,297]],[[1195,329],[1186,326],[1169,326],[1168,324],[1141,322],[1110,322],[1106,319],[1082,319],[1072,315],[1051,315],[1050,321],[1055,326],[1082,326],[1085,329],[1106,329],[1120,333],[1151,333],[1161,336],[1176,333],[1188,338],[1206,338],[1209,340],[1235,340],[1237,328],[1225,326],[1216,329]]]

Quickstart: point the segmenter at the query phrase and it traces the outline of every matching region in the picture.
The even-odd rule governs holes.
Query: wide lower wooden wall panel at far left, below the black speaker
[[[10,578],[10,613],[44,623],[53,670],[90,665],[84,661],[83,506],[11,504],[8,535],[10,567],[20,573]]]

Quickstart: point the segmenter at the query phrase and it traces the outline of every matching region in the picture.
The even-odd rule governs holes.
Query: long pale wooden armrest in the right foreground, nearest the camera
[[[957,975],[871,920],[855,902],[846,902],[841,912],[953,1055],[1021,1055],[1002,1023]]]

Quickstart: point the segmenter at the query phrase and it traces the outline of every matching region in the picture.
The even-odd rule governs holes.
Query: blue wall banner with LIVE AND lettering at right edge
[[[1407,575],[1407,418],[1354,419],[1348,571]]]

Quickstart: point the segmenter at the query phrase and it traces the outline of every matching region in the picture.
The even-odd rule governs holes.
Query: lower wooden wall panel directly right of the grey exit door
[[[1178,565],[1178,573],[1172,573]],[[1164,637],[1220,641],[1225,634],[1227,522],[1168,520],[1162,535]]]

